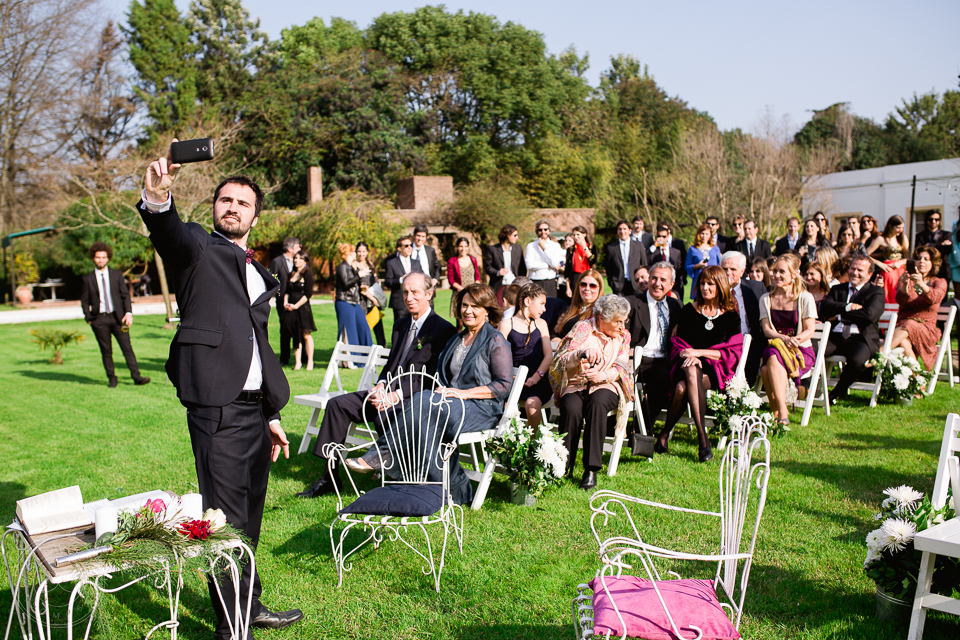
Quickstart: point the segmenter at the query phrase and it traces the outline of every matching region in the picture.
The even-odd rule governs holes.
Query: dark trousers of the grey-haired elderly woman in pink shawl
[[[598,471],[603,467],[603,439],[607,435],[607,414],[615,411],[619,397],[609,389],[587,393],[586,389],[560,397],[560,432],[570,451],[567,469],[573,468],[583,429],[583,468]]]

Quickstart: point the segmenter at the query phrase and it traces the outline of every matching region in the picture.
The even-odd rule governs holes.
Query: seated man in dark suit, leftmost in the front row
[[[436,373],[440,352],[457,330],[430,309],[434,291],[433,280],[428,281],[424,274],[414,271],[404,277],[402,286],[403,301],[410,315],[401,318],[393,327],[393,348],[387,364],[380,371],[377,385],[372,391],[356,391],[330,400],[320,423],[317,444],[313,448],[315,456],[324,458],[323,448],[327,444],[343,443],[351,424],[363,424],[364,414],[368,421],[376,425],[378,432],[383,431],[383,413],[403,406],[398,395],[400,390],[394,387],[387,394],[386,401],[390,404],[381,404],[375,398],[370,402],[366,400],[371,393],[386,390],[388,376],[397,375],[401,369],[409,371],[411,367],[416,371],[426,367],[427,373]],[[415,393],[418,389],[412,391]],[[404,387],[402,392],[406,396],[411,389]],[[302,498],[315,498],[331,493],[334,483],[338,488],[342,486],[336,471],[331,476],[327,468],[316,482],[297,495]]]

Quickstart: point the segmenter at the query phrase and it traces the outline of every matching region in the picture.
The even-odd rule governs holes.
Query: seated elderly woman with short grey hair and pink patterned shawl
[[[570,451],[567,473],[573,472],[583,430],[584,490],[597,486],[603,466],[603,439],[607,414],[617,410],[617,433],[627,428],[626,404],[633,398],[630,370],[630,333],[626,330],[630,305],[616,295],[594,303],[593,315],[574,325],[560,343],[550,366],[554,401],[560,407],[560,432]]]

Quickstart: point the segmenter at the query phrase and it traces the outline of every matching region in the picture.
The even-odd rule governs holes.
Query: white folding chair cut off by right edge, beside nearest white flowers
[[[960,558],[960,416],[947,415],[940,444],[940,460],[937,463],[937,477],[933,484],[930,502],[940,509],[947,501],[947,487],[953,487],[954,518],[921,531],[914,537],[914,548],[921,551],[920,573],[917,576],[917,593],[913,599],[913,612],[910,616],[909,640],[923,637],[923,625],[927,619],[927,609],[960,615],[960,600],[930,592],[933,582],[933,568],[937,556]]]

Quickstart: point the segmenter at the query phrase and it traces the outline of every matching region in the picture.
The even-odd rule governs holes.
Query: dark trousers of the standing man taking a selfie
[[[271,441],[267,420],[258,402],[234,401],[225,407],[187,407],[187,426],[197,467],[197,481],[204,509],[221,509],[227,522],[250,539],[256,550],[260,540],[263,504],[270,477]],[[233,583],[222,577],[220,591],[226,610],[220,603],[216,585],[209,581],[210,600],[217,615],[215,637],[229,636],[228,620],[233,619]],[[240,609],[246,610],[246,598],[253,589],[250,616],[260,613],[260,576],[252,575],[250,562],[240,574]]]

